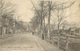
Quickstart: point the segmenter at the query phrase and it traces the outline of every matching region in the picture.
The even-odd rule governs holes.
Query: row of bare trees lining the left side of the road
[[[23,23],[14,17],[16,13],[15,4],[0,0],[0,34],[15,33],[24,29]]]

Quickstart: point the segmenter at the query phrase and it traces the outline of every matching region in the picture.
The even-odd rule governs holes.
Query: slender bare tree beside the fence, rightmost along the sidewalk
[[[75,2],[71,2],[69,5],[65,6],[64,4],[68,4],[68,2],[61,3],[57,7],[55,7],[55,15],[57,16],[58,20],[58,46],[59,46],[59,36],[60,36],[60,27],[62,24],[64,24],[63,20],[67,17],[66,9],[70,8]]]

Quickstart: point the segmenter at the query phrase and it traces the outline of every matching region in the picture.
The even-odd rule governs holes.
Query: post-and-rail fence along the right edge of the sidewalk
[[[70,51],[69,49],[69,43],[73,42],[70,40],[71,38],[74,39],[79,39],[80,36],[74,36],[74,35],[69,35],[69,34],[62,34],[60,36],[54,36],[51,38],[51,40],[46,39],[46,41],[50,42],[51,44],[56,44],[60,49],[63,49],[64,51]],[[75,42],[75,41],[74,41]],[[80,43],[80,41],[79,41]]]

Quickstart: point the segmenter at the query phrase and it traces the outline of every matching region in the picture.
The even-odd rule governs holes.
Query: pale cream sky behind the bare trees
[[[8,2],[9,0],[5,0]],[[18,20],[22,20],[25,22],[30,22],[31,18],[34,16],[34,12],[32,10],[33,5],[31,3],[31,0],[10,0],[11,3],[16,4],[16,14],[15,17],[17,17]],[[33,3],[36,3],[35,6],[38,3],[38,0],[32,0]],[[53,0],[55,1],[55,0]],[[75,0],[56,0],[59,2],[65,2],[65,1],[75,1]],[[80,22],[80,10],[78,10],[78,4],[80,3],[79,0],[76,0],[75,4],[68,9],[67,13],[68,15],[71,14],[66,18],[68,22]],[[53,14],[52,14],[53,15]],[[53,16],[51,17],[51,23],[53,23]],[[47,18],[46,18],[47,21]]]

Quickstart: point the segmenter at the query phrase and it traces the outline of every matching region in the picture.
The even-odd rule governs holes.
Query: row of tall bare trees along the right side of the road
[[[74,2],[53,2],[53,1],[40,1],[38,6],[35,6],[35,4],[32,2],[32,5],[34,7],[34,13],[35,16],[32,18],[32,29],[35,30],[37,27],[40,28],[41,37],[44,36],[43,31],[45,31],[45,19],[48,18],[48,29],[47,29],[47,37],[50,39],[50,18],[54,17],[52,14],[54,14],[57,17],[57,30],[58,30],[58,36],[60,32],[60,27],[62,25],[65,25],[65,21],[63,21],[66,17],[69,15],[65,15],[66,9],[70,8]],[[52,13],[53,12],[53,13]],[[63,26],[64,28],[64,26]]]

